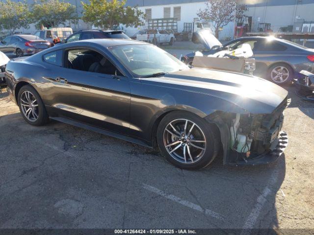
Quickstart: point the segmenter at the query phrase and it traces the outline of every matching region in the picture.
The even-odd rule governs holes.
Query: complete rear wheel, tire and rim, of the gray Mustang
[[[31,125],[40,126],[48,122],[48,114],[36,90],[26,85],[19,91],[18,104],[23,118]]]

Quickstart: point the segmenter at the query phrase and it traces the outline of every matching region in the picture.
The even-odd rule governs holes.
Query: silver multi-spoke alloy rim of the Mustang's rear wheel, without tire
[[[38,103],[35,96],[29,92],[25,91],[21,94],[20,105],[24,116],[29,121],[36,121],[39,117]]]

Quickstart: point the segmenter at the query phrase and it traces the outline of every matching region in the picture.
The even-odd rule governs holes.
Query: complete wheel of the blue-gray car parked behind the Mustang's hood
[[[285,63],[273,65],[268,70],[268,79],[276,84],[287,84],[293,79],[292,68]]]

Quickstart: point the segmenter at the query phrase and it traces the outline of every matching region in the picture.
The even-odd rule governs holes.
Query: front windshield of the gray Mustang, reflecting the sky
[[[189,69],[176,57],[153,45],[121,45],[110,51],[137,76]]]

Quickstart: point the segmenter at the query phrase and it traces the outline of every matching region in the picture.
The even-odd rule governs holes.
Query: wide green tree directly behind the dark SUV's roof
[[[144,19],[144,13],[137,7],[125,7],[126,0],[90,0],[89,3],[81,1],[81,4],[82,20],[96,27],[112,28],[119,24],[137,27]]]

